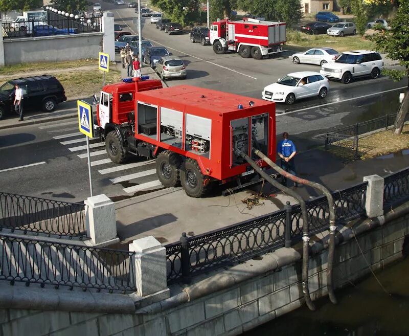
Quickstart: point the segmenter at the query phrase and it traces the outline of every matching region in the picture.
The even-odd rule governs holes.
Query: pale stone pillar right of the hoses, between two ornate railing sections
[[[368,218],[383,215],[383,178],[379,175],[364,176],[363,181],[368,181],[365,210]]]

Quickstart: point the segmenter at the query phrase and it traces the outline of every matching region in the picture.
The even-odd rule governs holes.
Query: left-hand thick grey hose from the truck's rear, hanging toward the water
[[[300,203],[301,213],[303,218],[303,271],[302,271],[302,284],[303,284],[303,293],[305,303],[307,304],[310,310],[315,310],[315,305],[311,300],[309,287],[308,287],[308,257],[309,257],[309,235],[308,235],[308,213],[307,207],[305,205],[304,199],[297,194],[296,192],[292,191],[291,189],[284,187],[280,183],[278,183],[274,178],[268,175],[264,170],[262,170],[247,154],[243,153],[240,149],[235,150],[235,154],[237,156],[241,156],[245,161],[251,165],[254,170],[256,170],[261,177],[263,177],[267,182],[269,182],[272,186],[276,187],[277,189],[281,190],[283,193],[297,199]]]

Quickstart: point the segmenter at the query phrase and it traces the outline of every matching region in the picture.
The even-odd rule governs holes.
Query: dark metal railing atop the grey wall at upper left
[[[2,23],[2,33],[4,38],[38,37],[100,32],[101,27],[101,17],[80,19],[67,17],[44,21]]]

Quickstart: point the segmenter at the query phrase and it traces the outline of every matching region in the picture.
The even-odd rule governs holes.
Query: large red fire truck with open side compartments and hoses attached
[[[275,161],[275,103],[189,85],[160,86],[133,78],[103,88],[96,130],[113,162],[131,154],[156,158],[165,187],[181,184],[189,196],[200,197],[212,183],[254,173],[235,149],[257,160],[255,147]]]

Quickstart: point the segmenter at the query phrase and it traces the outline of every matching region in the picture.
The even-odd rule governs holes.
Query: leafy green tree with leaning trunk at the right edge
[[[382,30],[373,35],[377,50],[383,51],[387,57],[396,61],[403,67],[402,70],[384,69],[383,74],[394,81],[404,77],[408,80],[405,97],[399,107],[394,124],[395,134],[402,132],[405,116],[409,109],[409,0],[400,0],[396,16],[390,21],[391,30]]]

